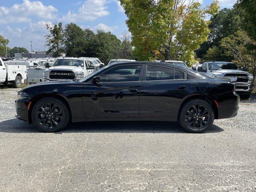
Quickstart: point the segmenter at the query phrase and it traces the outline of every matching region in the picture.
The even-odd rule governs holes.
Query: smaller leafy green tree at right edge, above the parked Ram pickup
[[[233,35],[221,40],[220,46],[226,48],[226,54],[233,56],[233,62],[239,66],[248,67],[254,76],[254,88],[256,87],[256,51],[248,49],[248,44],[254,44],[255,41],[248,36],[245,31],[239,30]]]

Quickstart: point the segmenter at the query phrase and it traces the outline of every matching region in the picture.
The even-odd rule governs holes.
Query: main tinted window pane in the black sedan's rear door
[[[165,67],[147,66],[146,81],[173,80],[174,70]]]

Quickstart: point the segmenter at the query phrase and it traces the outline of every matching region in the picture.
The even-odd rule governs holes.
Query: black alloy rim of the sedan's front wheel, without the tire
[[[63,120],[63,112],[57,104],[46,103],[37,111],[37,121],[44,128],[55,128]]]

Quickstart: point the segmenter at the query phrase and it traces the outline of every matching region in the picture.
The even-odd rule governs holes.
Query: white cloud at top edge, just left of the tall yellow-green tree
[[[109,15],[106,0],[86,0],[76,13],[71,11],[62,17],[65,22],[92,21]]]

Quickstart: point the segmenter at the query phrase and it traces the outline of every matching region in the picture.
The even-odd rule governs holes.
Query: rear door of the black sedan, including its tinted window
[[[145,66],[140,88],[141,118],[176,118],[189,93],[187,73],[166,66]]]

